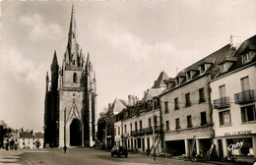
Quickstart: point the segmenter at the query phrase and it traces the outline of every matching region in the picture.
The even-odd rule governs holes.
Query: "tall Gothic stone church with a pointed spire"
[[[72,5],[68,43],[62,66],[54,51],[46,73],[44,147],[93,146],[95,143],[96,73],[78,43]]]

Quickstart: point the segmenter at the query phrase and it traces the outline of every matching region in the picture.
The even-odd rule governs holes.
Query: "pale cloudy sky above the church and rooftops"
[[[255,0],[76,1],[83,52],[96,71],[101,112],[115,98],[140,99],[169,77],[229,43],[256,34]],[[42,131],[45,75],[54,50],[62,65],[71,1],[1,3],[0,120]]]

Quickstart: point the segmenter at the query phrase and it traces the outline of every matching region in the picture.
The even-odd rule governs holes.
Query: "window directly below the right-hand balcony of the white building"
[[[255,105],[241,107],[242,122],[256,121]]]

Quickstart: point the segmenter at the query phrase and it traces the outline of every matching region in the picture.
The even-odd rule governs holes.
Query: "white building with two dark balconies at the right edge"
[[[220,158],[256,159],[256,35],[220,63],[211,81],[215,144]]]

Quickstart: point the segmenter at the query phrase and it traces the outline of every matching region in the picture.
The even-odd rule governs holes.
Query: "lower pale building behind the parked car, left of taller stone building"
[[[115,143],[126,145],[129,150],[159,154],[162,148],[162,133],[160,132],[160,93],[165,89],[163,82],[167,79],[164,72],[152,88],[144,92],[141,100],[131,101],[130,105],[116,115]]]

